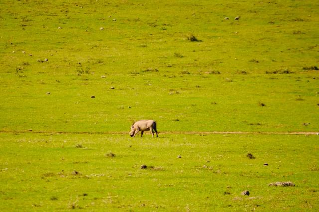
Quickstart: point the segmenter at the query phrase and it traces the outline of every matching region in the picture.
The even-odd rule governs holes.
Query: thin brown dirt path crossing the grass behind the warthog
[[[38,134],[128,134],[128,132],[66,132],[66,131],[33,131],[33,130],[0,130],[0,133],[38,133]],[[246,135],[319,135],[319,132],[241,132],[241,131],[163,131],[159,134],[211,135],[211,134],[246,134]]]

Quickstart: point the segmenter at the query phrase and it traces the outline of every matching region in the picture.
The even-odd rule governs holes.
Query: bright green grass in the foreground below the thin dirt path
[[[3,211],[319,209],[316,135],[0,136]]]

